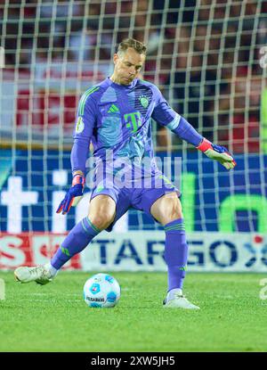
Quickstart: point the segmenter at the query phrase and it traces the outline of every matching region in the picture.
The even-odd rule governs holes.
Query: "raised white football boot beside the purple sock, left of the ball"
[[[55,275],[55,274],[54,274]],[[20,283],[36,282],[37,284],[47,284],[53,279],[50,263],[36,267],[18,267],[14,271],[15,280]]]

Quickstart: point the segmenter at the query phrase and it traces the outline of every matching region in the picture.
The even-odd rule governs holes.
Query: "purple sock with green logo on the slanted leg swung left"
[[[59,270],[72,256],[83,251],[100,232],[101,230],[93,226],[88,217],[83,218],[70,230],[66,239],[61,243],[60,248],[53,255],[51,265]]]

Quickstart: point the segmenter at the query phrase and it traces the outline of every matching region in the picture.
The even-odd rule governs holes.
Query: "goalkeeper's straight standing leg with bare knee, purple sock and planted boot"
[[[188,260],[188,244],[186,243],[182,218],[182,205],[177,193],[166,193],[158,198],[152,204],[150,213],[164,226],[166,232],[165,259],[168,269],[166,303],[169,301],[171,307],[171,300],[174,300],[177,294],[182,296],[182,284]],[[190,302],[187,304],[187,302],[188,300],[180,300],[180,303],[184,304],[183,308],[198,308]]]

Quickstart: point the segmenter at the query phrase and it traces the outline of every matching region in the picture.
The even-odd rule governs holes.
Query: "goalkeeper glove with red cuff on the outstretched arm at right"
[[[233,169],[236,166],[236,161],[232,158],[230,152],[224,146],[212,144],[205,138],[197,146],[197,149],[204,152],[211,160],[218,160],[225,169]]]

